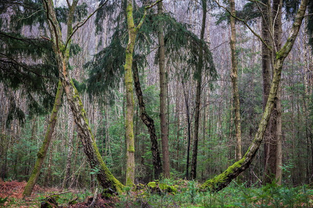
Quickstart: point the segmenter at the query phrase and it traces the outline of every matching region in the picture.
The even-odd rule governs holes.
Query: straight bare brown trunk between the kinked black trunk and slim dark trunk
[[[157,3],[157,14],[163,15],[162,2]],[[164,51],[164,36],[163,22],[158,22],[158,65],[160,74],[160,124],[161,124],[161,141],[162,141],[162,158],[163,158],[163,176],[170,178],[170,156],[168,147],[168,128],[166,120],[166,94],[167,94],[167,79],[165,71],[165,51]]]

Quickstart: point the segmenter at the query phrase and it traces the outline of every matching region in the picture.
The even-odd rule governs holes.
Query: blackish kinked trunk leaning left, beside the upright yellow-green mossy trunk
[[[152,161],[153,166],[155,168],[155,178],[156,180],[162,174],[162,163],[160,158],[160,153],[157,147],[157,138],[156,138],[156,128],[154,124],[154,120],[148,115],[146,112],[145,103],[143,101],[142,91],[139,82],[139,74],[138,74],[138,67],[136,62],[133,63],[133,70],[134,70],[134,85],[136,89],[136,95],[138,99],[138,104],[140,108],[140,118],[142,122],[147,126],[150,140],[151,140],[151,151],[152,151]]]

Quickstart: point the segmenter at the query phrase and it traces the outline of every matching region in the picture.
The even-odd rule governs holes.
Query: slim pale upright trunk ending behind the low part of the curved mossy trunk
[[[229,0],[230,12],[233,16],[236,15],[235,0]],[[241,154],[241,121],[240,121],[240,103],[238,93],[238,66],[237,66],[237,55],[236,55],[236,22],[235,18],[230,17],[230,48],[231,48],[231,83],[233,91],[233,99],[235,105],[235,131],[236,131],[236,147],[235,147],[235,160],[239,161],[242,158]]]

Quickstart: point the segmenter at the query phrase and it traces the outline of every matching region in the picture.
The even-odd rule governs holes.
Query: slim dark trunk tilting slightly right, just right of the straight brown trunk
[[[202,0],[202,25],[200,40],[203,41],[204,30],[206,21],[206,0]],[[199,48],[199,62],[197,69],[197,89],[196,89],[196,109],[195,109],[195,126],[194,126],[194,144],[192,150],[191,171],[190,178],[196,179],[197,177],[197,155],[198,155],[198,133],[199,133],[199,115],[200,115],[200,95],[201,95],[201,80],[202,80],[202,67],[203,67],[203,45]]]

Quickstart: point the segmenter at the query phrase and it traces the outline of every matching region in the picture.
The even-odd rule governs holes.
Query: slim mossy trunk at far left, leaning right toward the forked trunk
[[[29,178],[29,180],[26,184],[26,187],[24,189],[24,192],[23,192],[24,196],[30,196],[31,195],[33,188],[35,187],[35,184],[38,181],[38,178],[40,175],[40,170],[41,170],[41,167],[44,163],[45,156],[47,154],[47,151],[48,151],[48,148],[49,148],[49,145],[51,142],[52,134],[54,131],[54,126],[55,126],[56,121],[57,121],[57,115],[58,115],[60,104],[61,104],[62,93],[63,93],[63,86],[62,86],[61,81],[59,81],[57,94],[55,96],[53,110],[51,113],[51,118],[49,121],[47,131],[45,133],[45,139],[44,139],[43,145],[41,146],[41,148],[39,149],[39,151],[37,153],[37,160],[36,160],[35,166],[33,168],[33,171],[30,175],[30,178]]]

